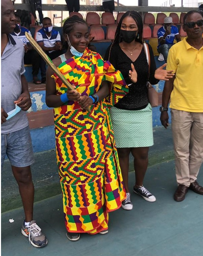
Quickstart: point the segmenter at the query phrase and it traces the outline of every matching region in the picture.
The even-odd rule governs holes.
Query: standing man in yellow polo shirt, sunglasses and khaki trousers
[[[184,200],[188,189],[203,195],[196,179],[203,162],[203,18],[191,10],[184,17],[187,37],[168,53],[167,69],[175,76],[165,82],[162,94],[161,124],[168,126],[171,99],[172,132],[178,188],[174,200]]]

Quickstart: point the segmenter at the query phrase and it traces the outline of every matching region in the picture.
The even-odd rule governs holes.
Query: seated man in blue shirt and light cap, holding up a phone
[[[167,60],[168,50],[174,44],[174,39],[176,38],[177,42],[181,41],[178,28],[173,26],[172,23],[172,17],[165,17],[163,27],[160,27],[157,31],[157,51],[163,55],[165,61]]]

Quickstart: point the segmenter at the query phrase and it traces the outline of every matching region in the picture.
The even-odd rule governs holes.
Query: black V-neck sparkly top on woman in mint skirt
[[[151,84],[157,84],[159,80],[154,78],[154,73],[156,70],[156,64],[154,60],[154,54],[152,47],[148,44],[150,51],[150,77],[149,81]],[[129,93],[126,94],[115,107],[120,109],[128,110],[139,110],[145,108],[148,103],[147,87],[146,82],[148,80],[148,63],[146,60],[146,55],[144,48],[142,48],[138,58],[132,62],[131,59],[122,51],[119,44],[113,45],[110,52],[107,49],[104,60],[108,60],[117,70],[120,70],[126,83],[130,84],[129,70],[131,70],[131,63],[134,64],[135,70],[137,71],[137,82],[129,86]]]

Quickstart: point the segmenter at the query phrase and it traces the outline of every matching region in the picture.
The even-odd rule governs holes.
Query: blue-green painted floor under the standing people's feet
[[[48,245],[37,249],[21,234],[22,208],[1,214],[2,256],[203,256],[203,195],[188,191],[182,202],[176,189],[174,161],[149,167],[144,186],[157,198],[147,202],[132,193],[133,210],[110,213],[109,233],[82,234],[69,241],[65,235],[62,196],[35,203],[34,217],[46,233]],[[203,184],[203,167],[198,181]],[[131,187],[134,173],[129,174]],[[13,223],[9,219],[14,219]]]

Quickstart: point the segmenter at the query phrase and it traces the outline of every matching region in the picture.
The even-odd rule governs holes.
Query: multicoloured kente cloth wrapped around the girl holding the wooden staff
[[[81,95],[96,93],[103,80],[112,82],[110,96],[90,106],[77,102],[54,108],[57,164],[67,231],[96,234],[108,228],[108,212],[125,198],[108,107],[128,93],[119,71],[88,49],[58,69]],[[67,87],[54,74],[57,94]]]

